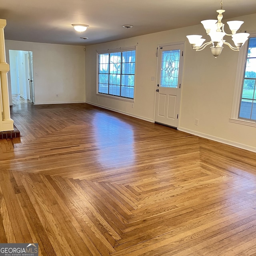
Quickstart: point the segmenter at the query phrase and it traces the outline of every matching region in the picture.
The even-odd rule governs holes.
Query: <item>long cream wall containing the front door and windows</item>
[[[242,30],[256,30],[256,14],[237,18],[244,20]],[[235,20],[235,19],[232,19]],[[184,70],[178,129],[220,142],[256,151],[256,128],[229,122],[238,52],[224,46],[215,59],[209,48],[192,50],[186,35],[202,34],[202,25],[190,26],[86,46],[86,102],[130,116],[154,121],[156,82],[156,48],[158,44],[185,41]],[[96,95],[96,51],[137,45],[135,103]],[[199,120],[195,126],[195,119]]]

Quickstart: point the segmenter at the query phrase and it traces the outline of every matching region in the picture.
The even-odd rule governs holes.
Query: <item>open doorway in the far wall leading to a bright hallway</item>
[[[12,102],[34,103],[33,52],[9,50]]]

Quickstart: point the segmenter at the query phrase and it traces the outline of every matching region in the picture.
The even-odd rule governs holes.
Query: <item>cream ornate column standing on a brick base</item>
[[[11,131],[13,129],[13,120],[10,117],[10,103],[8,92],[7,72],[10,70],[9,65],[6,63],[5,43],[4,43],[4,28],[6,20],[0,19],[0,88],[1,88],[1,112],[0,118],[0,131]]]

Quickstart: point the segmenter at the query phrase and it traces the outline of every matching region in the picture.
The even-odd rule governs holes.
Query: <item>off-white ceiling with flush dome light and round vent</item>
[[[220,0],[1,0],[0,18],[9,40],[85,46],[200,24],[219,8]],[[223,8],[224,19],[252,14],[256,0],[223,0]]]

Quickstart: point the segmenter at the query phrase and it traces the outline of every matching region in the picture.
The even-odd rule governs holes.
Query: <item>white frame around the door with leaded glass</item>
[[[157,57],[156,57],[156,83],[155,83],[155,87],[154,87],[154,90],[155,90],[155,97],[154,97],[154,115],[153,115],[153,122],[155,123],[156,121],[156,90],[157,90],[157,84],[158,84],[158,80],[159,80],[159,72],[158,72],[158,60],[159,60],[159,48],[162,47],[162,46],[172,46],[172,45],[176,45],[176,44],[183,44],[183,62],[182,62],[182,65],[179,66],[179,72],[182,72],[182,76],[181,76],[181,87],[180,87],[180,95],[179,95],[179,106],[178,106],[178,115],[179,115],[179,118],[178,118],[178,124],[177,124],[177,130],[179,130],[179,126],[180,126],[180,104],[181,104],[181,94],[182,94],[182,83],[183,83],[183,69],[184,69],[184,56],[185,56],[185,43],[186,41],[179,41],[179,42],[171,42],[171,43],[164,43],[164,44],[158,44],[157,45]]]

